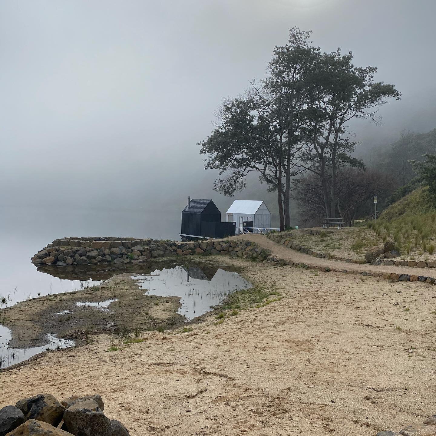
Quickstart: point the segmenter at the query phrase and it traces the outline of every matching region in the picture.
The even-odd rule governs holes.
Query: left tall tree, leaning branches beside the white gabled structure
[[[200,153],[208,155],[205,168],[220,171],[216,191],[225,195],[242,191],[252,171],[277,191],[281,230],[290,226],[291,179],[305,170],[297,166],[306,140],[298,119],[306,110],[307,85],[312,87],[307,77],[320,58],[320,49],[310,44],[309,36],[310,32],[292,28],[288,43],[274,48],[266,78],[223,102],[216,129],[199,143]]]

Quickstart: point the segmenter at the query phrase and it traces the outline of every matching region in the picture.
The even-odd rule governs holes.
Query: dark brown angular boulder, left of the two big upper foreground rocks
[[[57,427],[62,420],[65,407],[50,394],[25,398],[15,405],[26,419],[37,419]]]

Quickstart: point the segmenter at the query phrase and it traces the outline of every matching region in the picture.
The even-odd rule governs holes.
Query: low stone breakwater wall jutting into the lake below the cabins
[[[177,255],[228,254],[259,257],[257,245],[243,239],[230,241],[177,242],[135,238],[62,238],[55,239],[37,252],[31,261],[37,266],[108,265],[146,262],[148,259]],[[265,258],[265,259],[262,259]]]

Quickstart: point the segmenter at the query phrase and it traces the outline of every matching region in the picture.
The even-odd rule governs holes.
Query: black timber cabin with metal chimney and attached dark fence
[[[188,197],[182,211],[182,240],[224,238],[234,236],[235,231],[235,222],[221,222],[221,212],[212,200]]]

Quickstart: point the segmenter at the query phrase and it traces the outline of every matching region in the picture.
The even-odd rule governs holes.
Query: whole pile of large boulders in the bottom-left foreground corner
[[[40,394],[0,409],[0,436],[128,436],[121,422],[103,413],[102,397],[73,396],[59,402]]]

